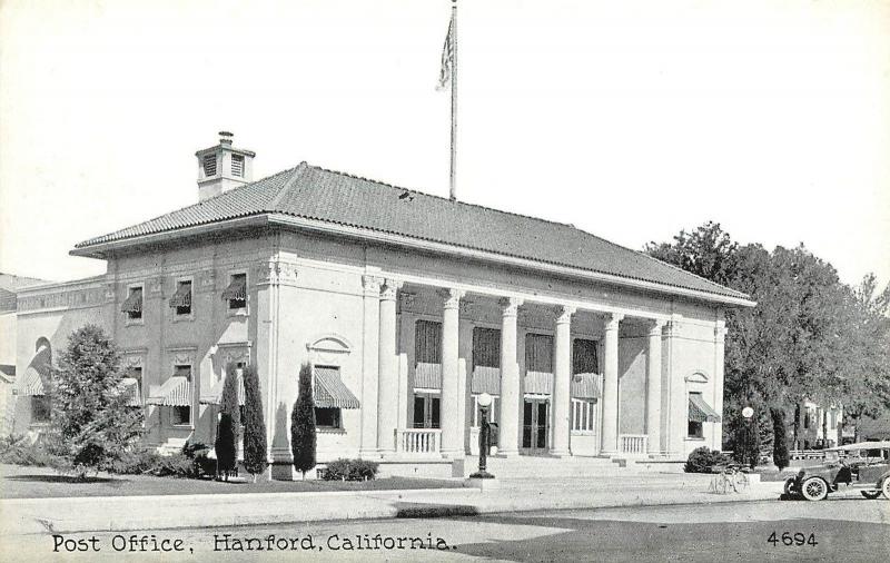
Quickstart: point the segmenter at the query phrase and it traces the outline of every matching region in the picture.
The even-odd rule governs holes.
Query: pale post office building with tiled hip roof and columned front
[[[78,244],[103,276],[19,295],[20,373],[103,326],[169,450],[212,441],[227,366],[251,363],[284,476],[304,363],[320,462],[459,460],[482,393],[507,457],[721,447],[724,312],[746,295],[571,225],[306,162],[253,181],[228,134],[196,156],[198,203]],[[41,386],[21,384],[27,428]]]

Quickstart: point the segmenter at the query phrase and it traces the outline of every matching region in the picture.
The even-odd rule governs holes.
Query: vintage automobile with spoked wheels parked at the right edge
[[[866,498],[890,498],[890,441],[859,442],[825,450],[824,462],[804,467],[785,481],[790,496],[821,501],[843,487]]]

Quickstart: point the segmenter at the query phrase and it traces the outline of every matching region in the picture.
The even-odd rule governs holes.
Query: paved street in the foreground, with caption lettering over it
[[[777,542],[771,543],[773,532]],[[792,545],[783,544],[785,532]],[[127,550],[131,546],[150,550],[154,547],[151,534],[159,549],[178,546],[182,550],[164,553],[167,561],[285,561],[295,555],[314,561],[888,561],[890,502],[847,495],[822,503],[769,501],[145,534],[77,533],[66,534],[63,540],[51,535],[23,535],[2,540],[0,560],[160,559],[159,552],[115,551],[115,546],[120,547],[123,542]],[[794,534],[800,534],[797,543],[802,545],[794,544]],[[136,543],[131,544],[134,535]],[[149,536],[145,543],[139,542],[142,535]],[[271,541],[269,536],[274,536]],[[246,539],[254,540],[247,542]],[[164,540],[167,542],[162,543]],[[176,540],[181,544],[176,544]],[[68,547],[90,551],[65,552],[63,541]],[[53,553],[55,543],[61,543],[57,553]],[[373,549],[375,544],[377,549]],[[426,549],[419,549],[421,544]],[[92,551],[93,545],[101,551]],[[215,547],[235,550],[239,545],[255,551],[214,551]],[[269,545],[271,551],[267,551]],[[428,549],[431,545],[443,549]],[[256,551],[257,547],[264,551]],[[297,551],[290,551],[291,547]],[[284,551],[278,551],[281,549]]]

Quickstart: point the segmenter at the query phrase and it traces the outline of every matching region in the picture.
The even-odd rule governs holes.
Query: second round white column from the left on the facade
[[[442,455],[443,457],[464,457],[463,428],[458,427],[463,397],[459,396],[458,352],[458,306],[464,293],[457,289],[443,289],[442,310]]]

